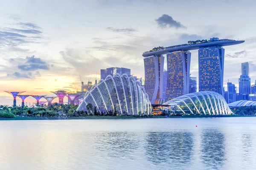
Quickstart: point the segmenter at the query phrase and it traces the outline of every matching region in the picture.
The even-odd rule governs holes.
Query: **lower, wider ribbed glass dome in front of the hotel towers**
[[[163,105],[170,105],[170,109],[174,113],[200,115],[233,114],[223,96],[213,91],[186,94],[172,99]]]

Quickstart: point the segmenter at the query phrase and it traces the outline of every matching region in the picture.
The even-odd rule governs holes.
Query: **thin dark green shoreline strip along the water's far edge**
[[[256,117],[256,115],[186,115],[186,116],[152,116],[152,117],[134,117],[134,116],[84,116],[84,117],[20,117],[3,118],[1,120],[81,120],[81,119],[168,119],[168,118],[221,118],[221,117]]]

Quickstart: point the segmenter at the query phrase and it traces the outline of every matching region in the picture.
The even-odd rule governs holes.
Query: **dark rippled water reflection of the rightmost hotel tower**
[[[224,134],[217,129],[203,131],[200,152],[201,160],[207,167],[222,167],[226,160]]]

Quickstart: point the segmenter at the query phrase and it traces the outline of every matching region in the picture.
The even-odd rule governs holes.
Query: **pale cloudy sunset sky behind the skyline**
[[[73,91],[74,84],[80,89],[80,75],[94,82],[108,67],[130,68],[144,78],[144,51],[211,37],[245,40],[224,47],[224,85],[229,80],[238,87],[242,62],[249,62],[253,84],[255,8],[255,0],[2,1],[0,104],[13,102],[4,91],[52,95]],[[191,53],[190,73],[198,77],[198,51]]]

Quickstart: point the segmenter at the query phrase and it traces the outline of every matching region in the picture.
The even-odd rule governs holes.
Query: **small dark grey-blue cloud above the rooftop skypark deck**
[[[158,24],[158,26],[160,26],[161,28],[185,28],[185,26],[183,26],[180,22],[175,21],[172,19],[171,16],[167,15],[167,14],[163,14],[161,17],[157,18],[155,20]]]

